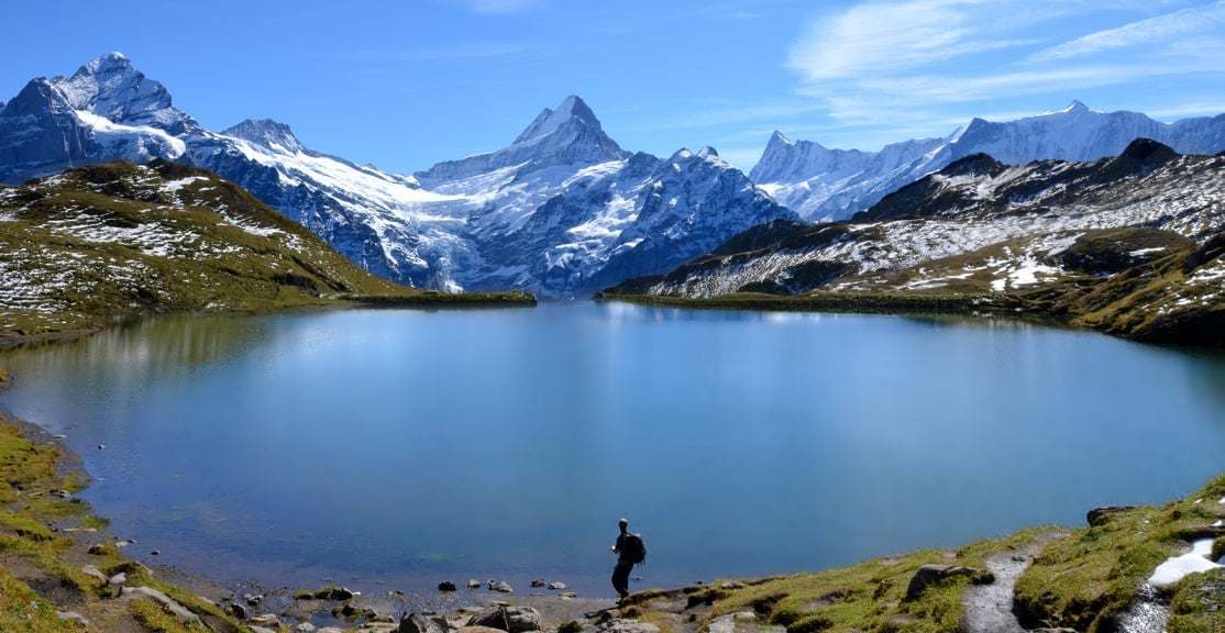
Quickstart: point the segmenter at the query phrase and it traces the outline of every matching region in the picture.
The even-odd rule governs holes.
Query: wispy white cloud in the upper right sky
[[[1187,4],[870,0],[816,16],[786,64],[833,120],[900,131],[1023,97],[1225,77],[1225,0]]]

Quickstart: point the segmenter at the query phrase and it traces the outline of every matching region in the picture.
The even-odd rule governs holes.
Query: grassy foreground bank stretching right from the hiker
[[[1194,495],[1161,507],[1118,508],[1078,530],[1031,529],[956,551],[929,550],[853,567],[760,580],[717,582],[631,596],[616,617],[650,623],[660,633],[990,633],[970,611],[974,588],[1007,583],[989,561],[1024,562],[1012,600],[1027,628],[1117,631],[1154,569],[1216,535],[1225,555],[1225,475]],[[1215,526],[1214,526],[1215,525]],[[921,593],[910,591],[924,564],[960,566]],[[1156,590],[1171,633],[1225,631],[1225,568],[1193,573]],[[1006,606],[1009,602],[1005,595]],[[1054,631],[1054,628],[1052,628]]]

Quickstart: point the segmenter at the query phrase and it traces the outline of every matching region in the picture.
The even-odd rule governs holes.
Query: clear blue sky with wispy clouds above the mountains
[[[289,124],[397,171],[495,149],[581,94],[627,149],[769,133],[875,149],[1078,98],[1225,111],[1225,1],[6,1],[0,99],[120,50],[211,129]],[[342,6],[347,5],[347,6]]]

